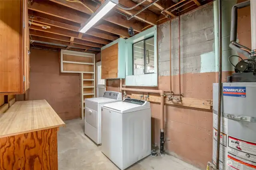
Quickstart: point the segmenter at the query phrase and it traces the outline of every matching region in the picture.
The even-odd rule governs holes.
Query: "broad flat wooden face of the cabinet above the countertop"
[[[21,1],[0,0],[0,93],[19,93]]]

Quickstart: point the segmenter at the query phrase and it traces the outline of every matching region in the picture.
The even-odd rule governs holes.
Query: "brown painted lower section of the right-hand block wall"
[[[232,71],[222,72],[222,82]],[[217,80],[216,80],[217,77]],[[172,91],[179,93],[178,75],[172,76]],[[184,97],[212,99],[212,84],[218,73],[186,73],[181,75]],[[125,84],[125,83],[123,83]],[[118,91],[119,80],[107,80],[108,91]],[[129,87],[170,91],[170,76],[158,77],[158,87]],[[128,92],[129,93],[129,92]],[[152,145],[160,146],[160,103],[151,103]],[[212,160],[212,110],[165,106],[165,151],[204,170]]]

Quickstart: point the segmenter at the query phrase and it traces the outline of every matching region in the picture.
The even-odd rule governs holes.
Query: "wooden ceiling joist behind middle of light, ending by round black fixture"
[[[80,3],[74,3],[74,2],[68,2],[66,0],[50,0],[52,2],[56,2],[58,4],[67,6],[69,8],[73,8],[75,10],[84,12],[86,14],[92,14],[88,8],[92,9],[94,12],[96,11],[96,6],[95,4],[92,3],[92,1],[85,1],[83,2],[88,8],[84,7]],[[111,22],[113,24],[117,24],[119,26],[123,26],[125,28],[130,28],[132,27],[135,31],[141,32],[144,24],[142,22],[136,21],[136,20],[127,20],[125,16],[122,14],[118,14],[117,12],[111,11],[109,12],[106,16],[104,16],[103,20],[106,20],[108,22]]]

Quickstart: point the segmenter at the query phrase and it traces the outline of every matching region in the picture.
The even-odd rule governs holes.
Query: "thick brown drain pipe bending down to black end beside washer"
[[[123,88],[122,81],[120,82],[120,91],[136,91],[136,92],[142,92],[142,93],[160,94],[160,155],[164,156],[164,91],[163,90]]]

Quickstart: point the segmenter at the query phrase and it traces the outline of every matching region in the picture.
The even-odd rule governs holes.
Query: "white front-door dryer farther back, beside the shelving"
[[[103,97],[85,99],[84,133],[96,144],[101,144],[101,106],[122,101],[122,93],[105,91]]]

